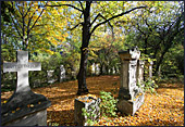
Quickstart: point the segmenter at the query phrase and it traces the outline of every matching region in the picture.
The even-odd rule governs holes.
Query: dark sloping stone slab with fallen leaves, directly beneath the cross
[[[14,92],[8,102],[1,106],[1,124],[4,125],[11,120],[45,110],[50,105],[51,102],[42,94],[37,94],[33,91]]]

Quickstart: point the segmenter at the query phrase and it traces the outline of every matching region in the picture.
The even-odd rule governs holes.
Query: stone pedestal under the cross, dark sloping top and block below
[[[47,107],[50,105],[42,94],[16,92],[1,106],[1,125],[47,126]]]

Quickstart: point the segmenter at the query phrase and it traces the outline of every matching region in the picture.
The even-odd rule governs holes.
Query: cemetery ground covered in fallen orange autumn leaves
[[[145,94],[145,103],[134,116],[118,113],[116,117],[101,117],[95,126],[184,126],[184,84],[164,82],[158,86],[157,94],[148,92]],[[103,90],[118,98],[120,76],[88,77],[87,87],[90,94],[99,96]],[[77,80],[32,90],[51,101],[51,106],[47,109],[49,126],[74,126],[74,99],[78,97]],[[1,92],[1,103],[4,103],[12,93],[13,91]]]

